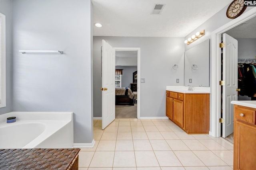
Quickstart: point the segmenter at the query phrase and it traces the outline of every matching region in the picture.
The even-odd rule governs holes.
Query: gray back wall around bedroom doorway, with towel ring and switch
[[[102,39],[112,47],[139,47],[141,50],[140,116],[165,116],[166,86],[183,86],[184,38],[171,37],[93,37],[94,117],[102,116],[100,47]],[[178,64],[179,69],[172,66]],[[176,83],[176,78],[180,83]]]

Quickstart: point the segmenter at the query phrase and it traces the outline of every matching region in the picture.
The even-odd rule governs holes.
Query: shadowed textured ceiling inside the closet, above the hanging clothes
[[[256,38],[256,17],[226,31],[234,38]]]

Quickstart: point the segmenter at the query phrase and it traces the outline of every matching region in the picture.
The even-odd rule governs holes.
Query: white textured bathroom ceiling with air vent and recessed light
[[[96,36],[185,37],[232,0],[92,0]],[[166,4],[160,15],[155,4]]]

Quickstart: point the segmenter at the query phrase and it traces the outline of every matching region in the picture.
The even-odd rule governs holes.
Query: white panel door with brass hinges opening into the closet
[[[234,132],[234,107],[230,102],[237,100],[237,60],[238,60],[238,42],[230,35],[223,34],[223,102],[222,102],[222,137],[227,137]]]

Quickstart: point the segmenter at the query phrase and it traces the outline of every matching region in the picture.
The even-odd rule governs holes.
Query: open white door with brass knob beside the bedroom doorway
[[[115,119],[115,50],[102,39],[102,129]]]

